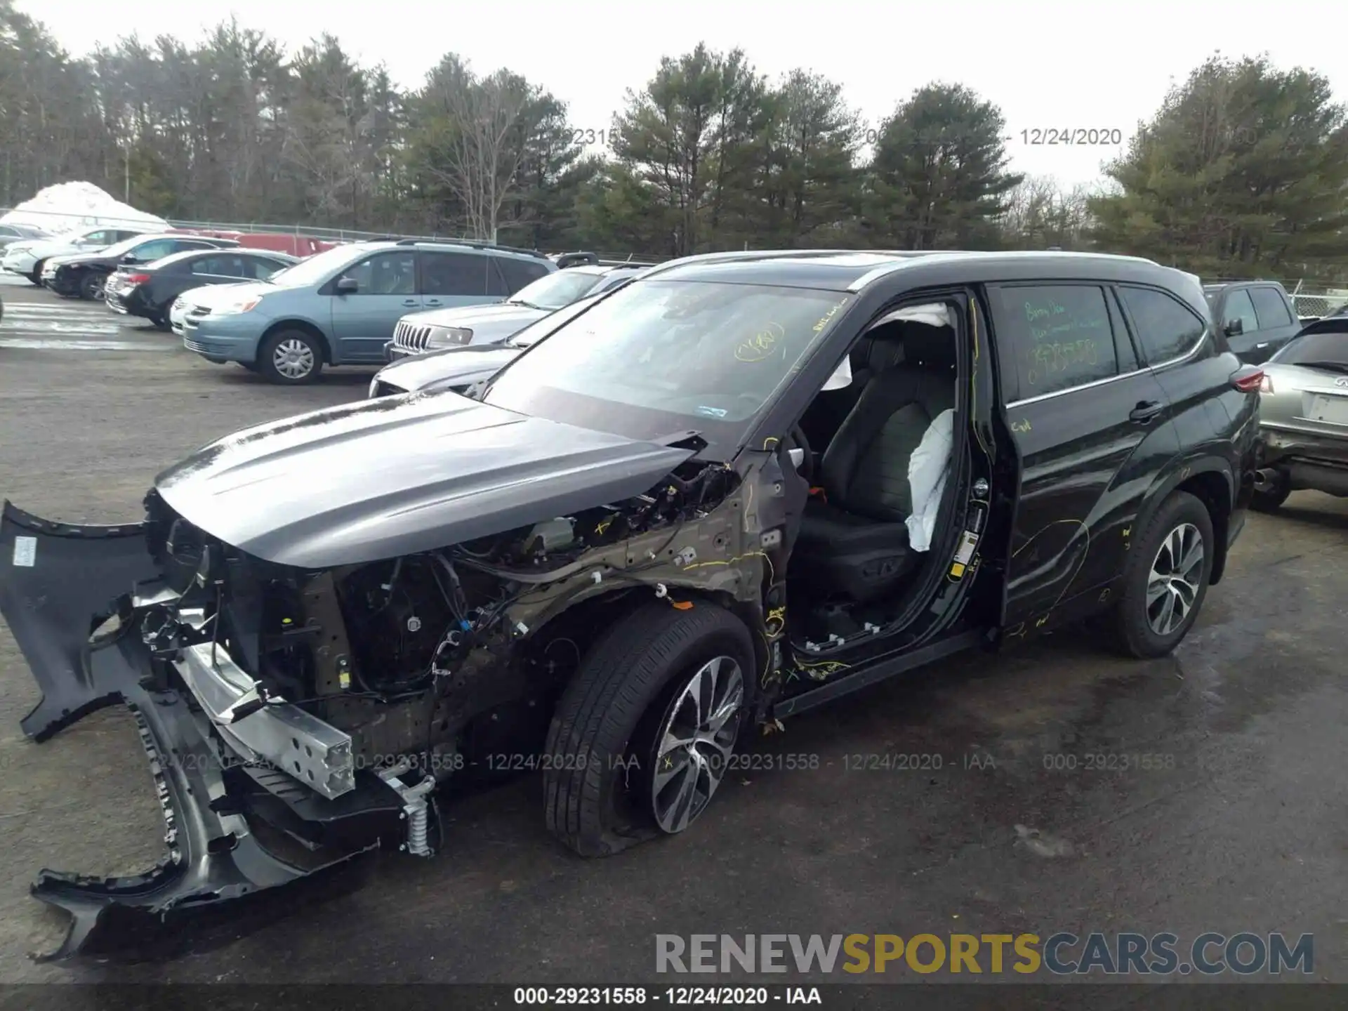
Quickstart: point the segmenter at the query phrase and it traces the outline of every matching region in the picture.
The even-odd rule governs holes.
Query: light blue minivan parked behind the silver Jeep
[[[557,270],[542,252],[492,243],[352,243],[267,280],[191,293],[183,346],[272,383],[310,383],[324,365],[381,364],[407,313],[500,302]]]

